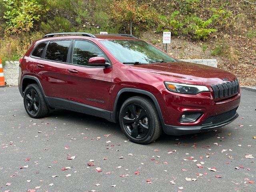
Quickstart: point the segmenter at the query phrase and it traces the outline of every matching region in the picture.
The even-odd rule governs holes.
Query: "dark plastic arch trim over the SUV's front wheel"
[[[148,91],[135,88],[123,88],[118,92],[114,102],[113,111],[111,112],[111,119],[113,121],[118,122],[118,114],[123,102],[132,96],[144,96],[148,98],[156,107],[156,111],[160,118],[160,122],[162,125],[164,125],[164,119],[158,101],[156,100],[156,97]]]

